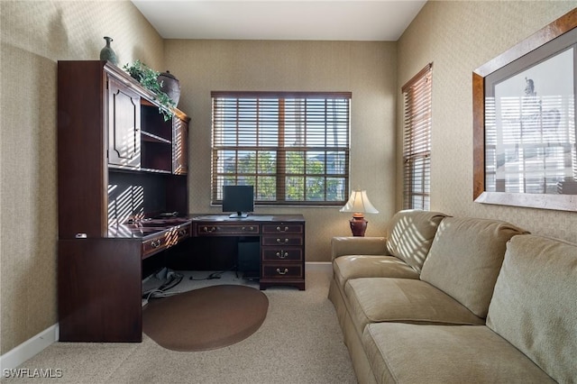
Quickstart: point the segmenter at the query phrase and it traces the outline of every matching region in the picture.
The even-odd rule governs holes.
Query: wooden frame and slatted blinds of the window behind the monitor
[[[211,204],[212,205],[221,205],[222,204],[222,186],[225,183],[225,178],[233,178],[234,182],[232,184],[248,184],[247,182],[239,181],[244,179],[254,178],[252,183],[255,185],[255,206],[343,206],[346,202],[348,195],[349,195],[349,175],[350,175],[350,147],[351,147],[351,134],[350,134],[350,126],[351,126],[351,101],[352,101],[352,93],[351,92],[261,92],[261,91],[212,91],[211,92],[211,99],[212,99],[212,145],[211,145]],[[243,118],[240,117],[239,111],[246,107],[246,105],[241,105],[241,100],[248,105],[251,103],[255,103],[254,111],[256,117],[253,117],[250,120],[249,124],[247,125],[246,121],[243,121]],[[275,116],[276,120],[271,115],[268,114],[267,117],[261,117],[258,115],[258,111],[260,105],[262,103],[263,111],[265,111],[266,104],[270,103],[274,105],[275,100],[278,102],[278,114]],[[294,139],[291,136],[290,126],[289,126],[289,112],[294,113],[298,107],[291,108],[291,101],[299,100],[304,102],[306,105],[307,100],[324,100],[325,103],[325,112],[321,114],[320,119],[325,124],[325,132],[319,136],[319,129],[316,126],[316,131],[313,132],[313,136],[316,140],[321,138],[324,141],[324,145],[308,145],[307,140],[308,134],[312,131],[312,128],[308,128],[308,125],[312,126],[310,123],[310,119],[307,119],[307,112],[302,114],[296,114],[293,117],[294,119],[298,120],[298,124],[304,124],[303,133],[305,133],[304,138],[302,139],[303,142],[300,142],[297,146],[288,146],[285,145],[285,142],[289,141],[290,139]],[[334,111],[331,108],[337,108],[335,105],[328,105],[331,100],[335,100],[335,102],[340,102],[340,107],[344,105],[344,115],[337,119],[337,123],[334,121],[328,122],[328,119],[331,117],[329,116],[329,111]],[[224,105],[225,103],[233,103],[236,101],[236,115],[232,118],[230,114],[234,114],[234,107],[229,107]],[[289,101],[289,102],[288,102]],[[293,102],[295,105],[297,101]],[[322,104],[322,102],[319,102]],[[289,105],[289,106],[287,106]],[[270,112],[274,109],[274,106],[271,107],[272,109],[267,110],[266,112]],[[307,109],[307,108],[305,108]],[[340,109],[338,109],[341,111]],[[249,111],[251,111],[249,109]],[[251,111],[251,112],[254,112]],[[318,112],[318,111],[316,111]],[[224,113],[227,114],[228,117],[224,117]],[[287,114],[287,115],[285,115]],[[311,113],[312,114],[312,113]],[[263,114],[264,116],[264,114]],[[318,115],[315,116],[318,118]],[[333,116],[334,117],[334,116]],[[221,122],[221,120],[226,120],[226,122]],[[262,120],[260,120],[262,119]],[[266,121],[265,121],[266,120]],[[296,121],[295,120],[295,121]],[[219,123],[220,122],[220,123]],[[233,129],[227,128],[224,125],[226,123],[234,123],[236,127]],[[249,126],[252,123],[254,126]],[[271,128],[272,123],[276,123],[275,128]],[[316,120],[318,124],[318,120]],[[321,123],[321,125],[323,124]],[[338,137],[339,140],[344,139],[344,144],[340,144],[339,140],[337,140],[337,144],[330,146],[327,145],[329,142],[329,132],[333,132],[332,130],[329,131],[329,125],[334,123],[334,128],[338,130]],[[345,124],[345,127],[341,124]],[[268,124],[268,125],[265,125]],[[276,137],[276,142],[271,145],[270,144],[270,137],[267,139],[261,138],[262,136],[266,136],[268,133],[262,133],[264,129],[276,129],[275,133],[272,133],[272,136]],[[253,130],[253,132],[252,132]],[[259,131],[261,130],[261,131]],[[295,129],[295,132],[298,131]],[[261,132],[261,133],[260,133]],[[270,131],[272,132],[272,131]],[[225,141],[230,141],[230,137],[224,138],[225,135],[236,134],[236,144],[230,145],[230,143],[226,143]],[[298,135],[299,133],[293,133],[293,135]],[[249,137],[250,140],[254,140],[250,145],[243,145],[240,144],[240,140],[238,137],[243,136],[243,138]],[[268,142],[267,142],[268,141]],[[262,144],[264,142],[264,144]],[[241,158],[239,156],[239,152],[244,153],[254,153],[254,161],[255,165],[253,165],[254,169],[252,172],[239,172],[239,164]],[[219,159],[219,154],[222,155],[225,152],[234,152],[234,162],[228,162],[229,166],[234,165],[234,172],[224,171],[224,161]],[[275,163],[275,167],[273,167],[273,173],[266,173],[259,166],[259,159],[265,152],[271,152],[274,154],[272,159]],[[291,173],[289,166],[289,158],[288,155],[290,153],[295,153],[298,158],[298,153],[302,153],[301,160],[303,161],[302,165],[302,173]],[[322,169],[320,173],[315,173],[307,169],[308,159],[307,152],[313,153],[320,153],[323,160],[320,160],[322,164]],[[328,156],[329,153],[335,154],[340,160],[340,166],[338,169],[342,169],[342,172],[336,172],[329,170],[329,165],[331,164],[331,160]],[[269,153],[270,154],[270,153]],[[317,162],[317,161],[316,161]],[[272,170],[272,169],[269,169]],[[259,197],[260,194],[260,187],[259,187],[259,180],[264,178],[274,177],[274,199],[262,199]],[[289,178],[293,178],[293,180],[297,180],[300,182],[299,184],[299,191],[302,193],[300,198],[298,199],[290,199],[287,195],[289,195],[287,191],[287,187],[289,186],[290,180]],[[302,178],[302,180],[299,180]],[[317,191],[318,194],[322,195],[322,199],[314,199],[307,197],[307,192],[310,189],[307,187],[307,179],[314,180],[314,179],[321,179],[319,186],[320,192]],[[338,200],[328,200],[328,196],[331,193],[331,188],[329,186],[329,182],[334,181],[337,183],[338,192],[336,193]],[[313,181],[314,182],[314,181]],[[250,183],[250,182],[249,182]],[[301,190],[302,189],[302,190]],[[307,198],[309,198],[307,200]]]

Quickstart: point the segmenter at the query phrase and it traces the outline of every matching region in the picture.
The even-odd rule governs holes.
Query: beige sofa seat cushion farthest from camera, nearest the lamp
[[[349,255],[333,261],[334,277],[339,287],[349,279],[358,278],[403,278],[418,279],[417,270],[394,256]]]

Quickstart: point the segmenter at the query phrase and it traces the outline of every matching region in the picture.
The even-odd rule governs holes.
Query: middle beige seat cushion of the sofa
[[[351,279],[345,284],[344,292],[359,337],[369,323],[485,323],[453,297],[417,279]]]

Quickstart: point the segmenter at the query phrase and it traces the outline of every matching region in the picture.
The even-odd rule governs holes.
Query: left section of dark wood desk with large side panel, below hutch
[[[190,237],[188,217],[59,241],[60,342],[142,342],[142,261]]]

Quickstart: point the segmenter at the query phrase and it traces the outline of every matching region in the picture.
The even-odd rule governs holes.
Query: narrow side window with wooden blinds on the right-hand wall
[[[431,184],[431,80],[428,64],[401,90],[404,99],[405,209],[429,210]]]

